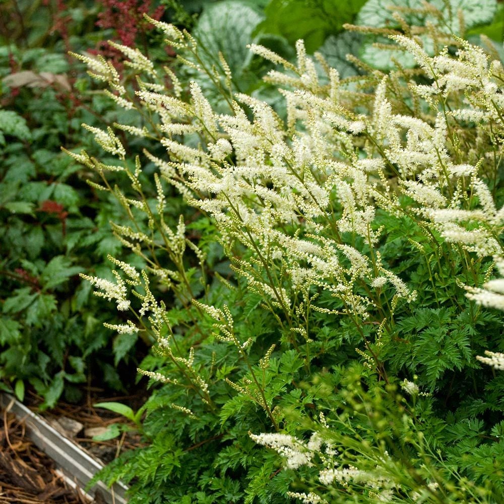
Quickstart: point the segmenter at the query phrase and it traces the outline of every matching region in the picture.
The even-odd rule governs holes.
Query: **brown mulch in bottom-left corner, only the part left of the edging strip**
[[[0,415],[0,502],[88,504],[56,471],[54,461],[25,436],[15,415]]]

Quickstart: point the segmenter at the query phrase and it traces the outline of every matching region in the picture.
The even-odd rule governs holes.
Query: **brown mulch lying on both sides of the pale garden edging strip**
[[[134,409],[145,401],[145,392],[123,397],[104,398],[100,390],[89,393],[79,405],[58,403],[51,411],[43,413],[45,420],[52,424],[65,417],[80,422],[83,429],[76,435],[65,434],[79,444],[90,455],[103,463],[108,463],[124,450],[142,446],[137,432],[125,432],[116,439],[95,441],[86,435],[88,428],[106,428],[111,423],[128,423],[125,418],[103,409],[94,408],[97,402],[117,401],[131,405]],[[97,393],[98,392],[98,393]],[[31,391],[28,406],[35,412],[41,398]],[[23,421],[12,413],[0,409],[0,504],[89,504],[80,489],[72,488],[56,470],[55,463],[40,451],[25,435]],[[101,502],[98,498],[95,502]]]

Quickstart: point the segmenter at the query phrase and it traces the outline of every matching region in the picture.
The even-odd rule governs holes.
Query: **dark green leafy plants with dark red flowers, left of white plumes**
[[[114,102],[71,66],[67,52],[99,50],[101,39],[120,36],[94,31],[107,11],[90,4],[13,1],[0,8],[0,377],[20,399],[31,385],[43,407],[62,394],[78,400],[82,383],[125,390],[131,381],[117,368],[135,369],[147,352],[141,342],[135,357],[136,338],[102,326],[113,315],[78,277],[107,274],[107,255],[122,255],[108,231],[110,219],[122,218],[120,206],[101,198],[60,151],[65,144],[93,152],[80,124],[118,118]]]

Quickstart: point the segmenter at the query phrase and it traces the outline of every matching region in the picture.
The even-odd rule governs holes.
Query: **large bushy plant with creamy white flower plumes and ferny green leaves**
[[[115,45],[135,93],[78,56],[138,118],[84,125],[113,162],[69,152],[146,265],[85,275],[129,314],[107,327],[156,340],[149,446],[102,475],[132,502],[504,499],[503,314],[485,309],[503,306],[504,69],[488,37],[457,35],[496,4],[395,4],[385,28],[347,26],[391,69],[350,56],[342,77],[301,40],[294,62],[250,44],[283,106],[197,29],[149,19],[180,79]]]

